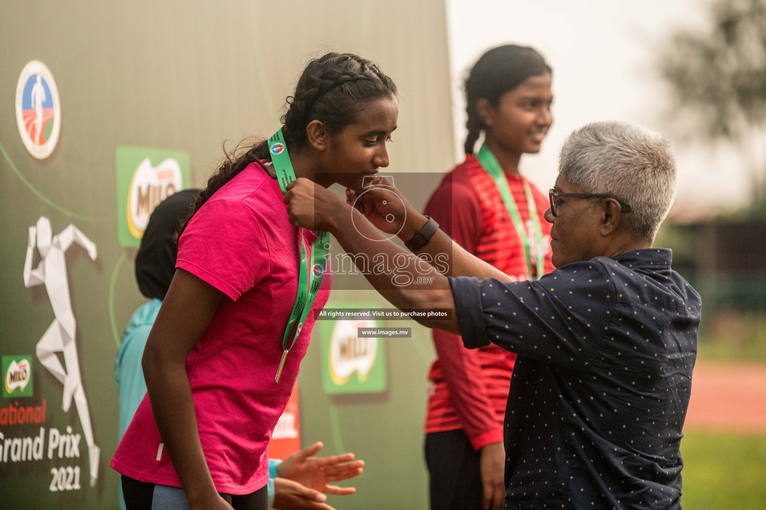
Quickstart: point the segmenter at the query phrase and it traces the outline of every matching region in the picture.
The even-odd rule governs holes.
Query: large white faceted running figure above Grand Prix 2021
[[[88,445],[88,462],[90,465],[90,486],[96,485],[98,477],[99,447],[93,441],[93,429],[90,427],[90,412],[85,399],[83,383],[80,380],[80,363],[77,360],[77,346],[74,344],[74,313],[69,298],[69,283],[67,282],[67,265],[64,252],[73,242],[87,250],[88,255],[96,260],[96,245],[80,232],[76,226],[67,226],[60,234],[53,236],[51,220],[45,216],[38,219],[38,225],[29,227],[29,242],[27,259],[24,263],[24,284],[26,287],[44,284],[51,306],[56,316],[51,326],[44,333],[37,346],[40,362],[64,385],[64,402],[61,408],[69,411],[74,397],[77,414],[83,425],[85,442]],[[40,252],[40,264],[32,269],[32,255],[37,245]],[[64,355],[61,365],[56,356],[57,352]]]

